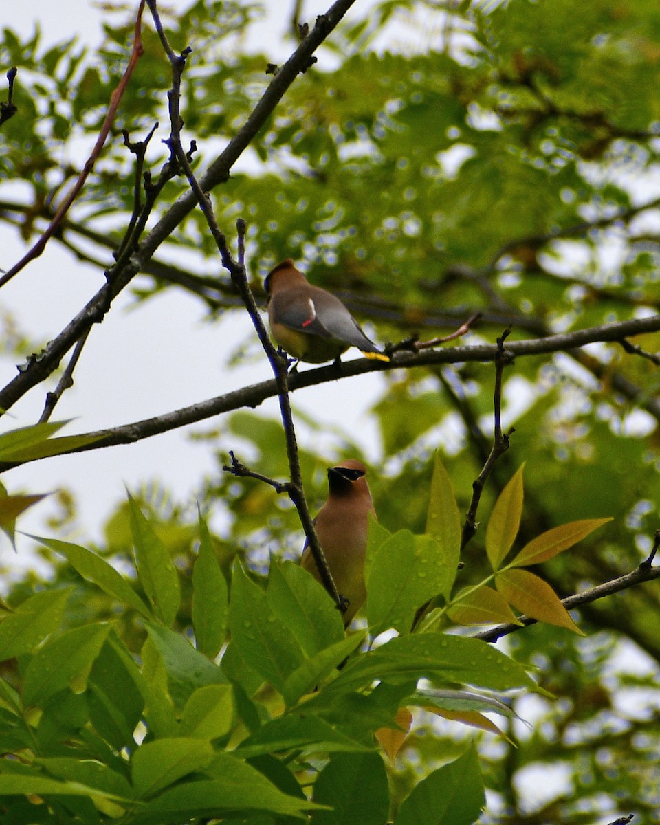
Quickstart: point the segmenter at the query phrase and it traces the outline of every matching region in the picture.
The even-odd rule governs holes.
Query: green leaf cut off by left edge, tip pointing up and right
[[[73,587],[35,593],[0,624],[0,662],[31,653],[54,630],[64,615]]]

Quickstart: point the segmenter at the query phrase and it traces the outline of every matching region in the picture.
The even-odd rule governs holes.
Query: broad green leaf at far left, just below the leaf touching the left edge
[[[37,705],[64,690],[73,676],[87,676],[110,630],[110,625],[83,625],[45,643],[26,667],[25,704]]]

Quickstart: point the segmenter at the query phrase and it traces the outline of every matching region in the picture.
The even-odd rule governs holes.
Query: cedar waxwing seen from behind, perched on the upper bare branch
[[[320,286],[308,283],[290,258],[278,263],[264,281],[271,334],[299,361],[336,361],[348,347],[389,361],[342,304]]]

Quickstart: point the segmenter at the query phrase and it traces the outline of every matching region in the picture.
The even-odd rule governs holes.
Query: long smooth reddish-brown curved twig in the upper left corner
[[[7,281],[11,281],[12,278],[17,275],[21,269],[23,269],[26,264],[31,261],[34,261],[35,258],[38,258],[40,254],[44,251],[46,243],[52,238],[54,233],[57,231],[59,224],[62,223],[64,219],[64,215],[67,214],[69,207],[73,204],[73,201],[76,200],[78,197],[79,192],[82,190],[82,186],[85,185],[85,181],[87,181],[87,177],[89,176],[90,172],[94,168],[94,164],[97,162],[97,158],[101,154],[101,149],[103,148],[103,144],[106,143],[106,138],[111,130],[111,126],[113,121],[115,120],[115,115],[117,113],[117,109],[119,108],[121,98],[124,96],[124,92],[126,87],[128,87],[131,75],[133,74],[134,68],[137,66],[140,57],[144,51],[144,47],[142,45],[142,11],[144,9],[144,0],[140,0],[138,13],[135,18],[135,26],[134,26],[134,34],[133,34],[133,50],[130,53],[130,59],[128,65],[125,68],[125,72],[121,77],[119,85],[116,87],[115,91],[112,92],[112,96],[110,98],[110,105],[108,106],[108,111],[103,120],[103,125],[101,126],[101,131],[99,132],[97,143],[94,145],[92,149],[92,154],[87,158],[85,165],[82,167],[82,172],[78,176],[78,180],[73,184],[71,191],[68,193],[68,196],[62,202],[62,205],[59,207],[59,210],[54,215],[54,218],[50,221],[47,229],[41,235],[39,240],[31,247],[26,254],[21,257],[21,260],[14,264],[11,269],[7,270],[5,274],[0,278],[0,287],[4,286]]]

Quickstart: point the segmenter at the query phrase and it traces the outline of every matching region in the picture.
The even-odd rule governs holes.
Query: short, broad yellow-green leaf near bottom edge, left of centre
[[[140,745],[131,760],[135,794],[139,799],[149,799],[181,776],[204,768],[213,757],[210,742],[193,737],[158,739]]]

